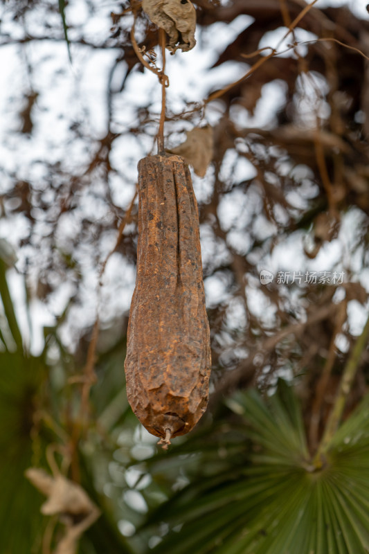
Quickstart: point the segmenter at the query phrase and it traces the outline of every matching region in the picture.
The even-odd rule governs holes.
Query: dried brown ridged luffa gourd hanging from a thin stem
[[[147,431],[169,443],[201,418],[210,376],[199,217],[183,158],[158,154],[142,159],[138,199],[127,396]]]

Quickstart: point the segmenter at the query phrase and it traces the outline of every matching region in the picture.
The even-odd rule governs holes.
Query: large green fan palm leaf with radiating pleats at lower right
[[[147,528],[181,524],[154,552],[368,553],[369,398],[336,432],[322,467],[309,455],[298,401],[284,382],[267,400],[248,391],[227,403],[243,421],[244,466],[229,456],[228,472],[190,483],[153,512]]]

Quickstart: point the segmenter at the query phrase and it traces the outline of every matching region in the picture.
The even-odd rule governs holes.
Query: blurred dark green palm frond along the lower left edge
[[[6,530],[1,550],[28,554],[41,541],[43,528],[35,510],[41,496],[26,481],[24,471],[31,463],[40,463],[46,445],[34,419],[45,366],[41,358],[17,350],[0,352],[0,368],[0,527]]]

